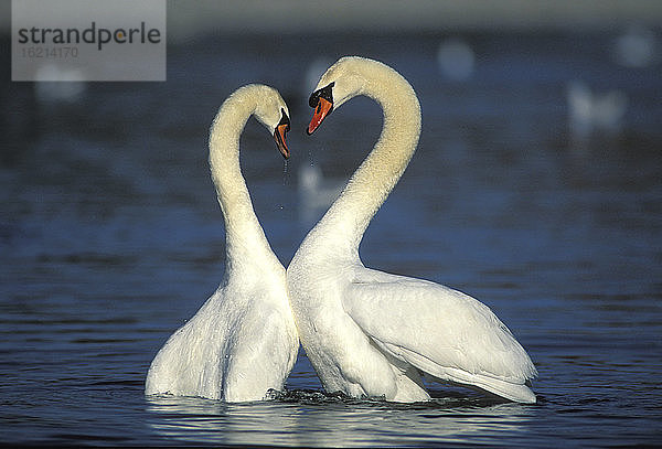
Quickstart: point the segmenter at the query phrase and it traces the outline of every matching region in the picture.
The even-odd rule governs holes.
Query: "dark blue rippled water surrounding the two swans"
[[[469,34],[473,72],[458,81],[437,63],[446,38],[204,39],[169,47],[167,83],[93,83],[70,100],[3,71],[1,442],[662,443],[660,60],[618,65],[616,30]],[[242,138],[256,212],[287,264],[321,213],[303,210],[299,171],[343,182],[380,132],[380,109],[355,99],[305,136],[308,67],[344,54],[397,68],[424,115],[419,149],[363,240],[365,265],[490,306],[540,371],[538,404],[440,385],[427,404],[348,399],[323,394],[303,352],[269,402],[143,396],[151,359],[223,274],[206,163],[217,107],[249,82],[290,105],[287,165],[255,120]],[[619,90],[622,117],[572,132],[574,81]]]

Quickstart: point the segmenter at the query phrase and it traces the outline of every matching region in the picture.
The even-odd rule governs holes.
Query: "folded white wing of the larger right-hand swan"
[[[448,287],[362,268],[343,308],[383,351],[441,381],[535,402],[537,375],[511,331],[483,303]]]

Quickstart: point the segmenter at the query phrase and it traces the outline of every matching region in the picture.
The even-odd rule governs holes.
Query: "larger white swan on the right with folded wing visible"
[[[308,133],[356,95],[384,111],[380,140],[287,269],[299,339],[328,392],[429,399],[421,373],[535,403],[536,370],[508,328],[476,299],[421,279],[365,268],[359,244],[404,172],[420,133],[412,86],[386,65],[343,57],[310,97]]]

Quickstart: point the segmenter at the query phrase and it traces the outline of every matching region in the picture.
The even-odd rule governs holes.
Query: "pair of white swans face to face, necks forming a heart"
[[[536,370],[488,307],[448,287],[361,263],[363,233],[418,143],[420,106],[391,67],[343,57],[310,97],[308,133],[357,95],[382,106],[382,135],[305,238],[287,275],[261,232],[238,165],[238,136],[250,114],[275,133],[287,157],[287,106],[265,86],[244,87],[222,106],[210,161],[226,224],[225,279],[157,354],[147,394],[261,399],[268,388],[282,388],[298,335],[328,392],[428,400],[425,376],[535,403],[528,383]]]

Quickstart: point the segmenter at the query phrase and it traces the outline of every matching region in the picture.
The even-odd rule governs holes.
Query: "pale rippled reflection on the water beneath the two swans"
[[[450,396],[412,405],[359,402],[302,391],[252,404],[173,396],[147,399],[149,425],[160,436],[231,446],[479,442],[495,432],[524,434],[534,410],[531,406],[484,398]]]

